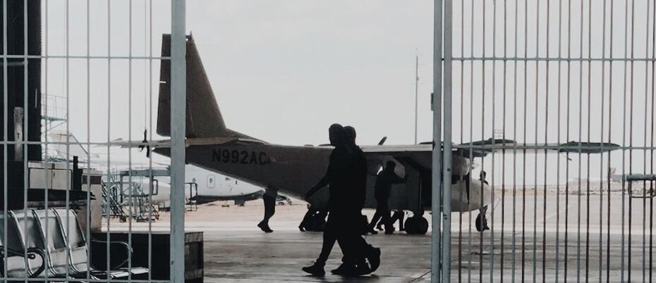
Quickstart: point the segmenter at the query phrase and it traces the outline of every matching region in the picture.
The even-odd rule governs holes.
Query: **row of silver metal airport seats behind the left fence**
[[[92,266],[88,257],[88,243],[80,228],[75,211],[10,210],[7,215],[8,246],[11,246],[11,268],[7,277],[44,278],[52,281],[69,277],[73,279],[147,279],[147,268],[126,268],[132,249],[123,242],[110,242],[110,249],[124,251],[126,258],[119,264]],[[1,226],[2,229],[4,226]],[[4,233],[0,233],[4,234]],[[68,237],[67,237],[68,235]],[[92,243],[107,242],[92,240]],[[23,250],[28,251],[25,260]],[[27,264],[27,267],[25,266]],[[3,272],[5,274],[5,272]]]

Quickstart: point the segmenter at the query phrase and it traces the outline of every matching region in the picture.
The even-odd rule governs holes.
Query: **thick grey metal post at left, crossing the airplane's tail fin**
[[[171,282],[185,280],[185,4],[171,1]]]

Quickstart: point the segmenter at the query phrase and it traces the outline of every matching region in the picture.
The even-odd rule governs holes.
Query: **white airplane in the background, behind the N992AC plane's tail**
[[[49,158],[51,161],[67,161],[71,156],[78,156],[80,163],[90,163],[90,165],[107,168],[107,158],[98,153],[89,153],[83,147],[78,139],[71,133],[55,130],[49,132],[48,139],[53,144],[49,145]],[[70,144],[67,147],[66,141]],[[164,165],[166,160],[154,159],[154,170],[166,169]],[[123,158],[111,158],[113,170],[147,170],[150,168],[148,161],[138,156],[133,156],[132,161]],[[230,177],[217,175],[217,172],[205,170],[194,165],[186,165],[185,182],[188,184],[188,191],[185,192],[188,201],[195,201],[197,204],[210,203],[214,201],[234,201],[236,205],[243,206],[245,201],[260,199],[264,194],[264,189],[247,182],[233,180]],[[133,176],[129,182],[135,184],[141,189],[139,196],[147,196],[152,204],[159,205],[161,208],[169,206],[171,184],[168,176],[154,177],[156,181],[152,182],[148,177]],[[123,179],[128,182],[127,178]],[[152,187],[152,191],[151,188]]]

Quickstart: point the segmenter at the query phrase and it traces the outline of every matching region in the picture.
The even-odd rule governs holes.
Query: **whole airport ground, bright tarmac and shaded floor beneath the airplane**
[[[492,230],[482,234],[473,223],[478,212],[452,213],[451,282],[656,279],[652,199],[630,199],[612,191],[609,202],[607,192],[569,190],[565,194],[563,188],[559,193],[554,188],[527,189],[526,195],[516,190],[514,197],[511,188],[495,190],[497,201],[488,211]],[[326,276],[306,275],[300,268],[318,256],[322,234],[298,230],[305,210],[305,203],[297,200],[291,206],[277,206],[270,234],[255,227],[263,214],[261,201],[243,207],[219,202],[189,211],[186,229],[204,232],[205,282],[430,282],[430,231],[421,236],[367,236],[370,244],[382,249],[381,266],[372,275],[331,275],[329,271],[341,262],[339,246],[326,265]],[[374,211],[364,213],[371,217]],[[430,214],[425,217],[430,219]],[[162,213],[152,229],[166,230],[168,222],[167,213]],[[112,221],[111,227],[126,225]],[[133,229],[146,227],[133,223]]]

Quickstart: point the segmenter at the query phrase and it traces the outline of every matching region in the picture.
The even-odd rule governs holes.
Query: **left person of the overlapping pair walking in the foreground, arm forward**
[[[344,143],[344,127],[339,124],[333,124],[328,129],[330,144],[335,148],[331,151],[328,168],[322,179],[305,194],[305,199],[315,194],[319,189],[328,186],[328,220],[324,227],[323,244],[319,258],[313,265],[306,266],[303,271],[311,275],[322,276],[325,274],[324,265],[328,256],[340,236],[341,229],[344,229],[344,220],[346,219],[344,211],[341,209],[342,203],[348,198],[346,194],[348,158],[351,154]],[[344,247],[342,247],[344,250]]]

